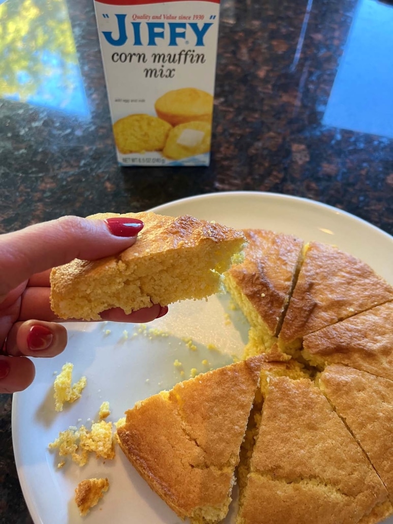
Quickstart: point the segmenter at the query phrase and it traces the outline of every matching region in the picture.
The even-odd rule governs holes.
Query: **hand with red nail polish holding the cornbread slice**
[[[0,235],[0,392],[27,388],[35,376],[30,357],[52,357],[67,345],[67,331],[50,309],[50,269],[74,258],[95,260],[132,246],[143,228],[138,220],[86,220],[76,216]],[[103,320],[149,322],[167,307],[128,315],[116,308]],[[34,320],[32,320],[34,319]]]

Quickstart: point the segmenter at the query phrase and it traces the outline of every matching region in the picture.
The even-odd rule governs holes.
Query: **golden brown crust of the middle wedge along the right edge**
[[[302,354],[321,369],[344,364],[393,380],[393,302],[306,335]]]

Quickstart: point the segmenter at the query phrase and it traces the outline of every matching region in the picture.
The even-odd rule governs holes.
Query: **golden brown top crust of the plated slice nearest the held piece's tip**
[[[246,297],[248,307],[256,311],[258,324],[266,323],[269,334],[276,336],[289,300],[303,241],[266,230],[243,232],[248,240],[244,262],[231,268],[227,275]],[[247,315],[248,307],[242,309],[252,322],[253,318]]]

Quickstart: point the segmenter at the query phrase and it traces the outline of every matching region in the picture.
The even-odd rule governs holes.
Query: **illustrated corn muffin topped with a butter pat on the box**
[[[201,155],[210,151],[212,128],[208,122],[188,122],[173,127],[163,150],[173,160]]]

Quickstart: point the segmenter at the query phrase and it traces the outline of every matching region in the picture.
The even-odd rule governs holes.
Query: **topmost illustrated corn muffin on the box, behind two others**
[[[211,122],[213,96],[195,88],[168,91],[155,104],[157,115],[172,126],[185,122]]]

